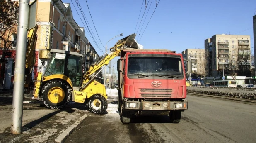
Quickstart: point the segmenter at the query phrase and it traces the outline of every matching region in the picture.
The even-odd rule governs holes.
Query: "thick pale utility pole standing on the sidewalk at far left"
[[[29,0],[19,0],[19,19],[17,33],[16,63],[14,70],[14,88],[12,101],[12,134],[22,133],[23,94],[27,31],[29,21]]]

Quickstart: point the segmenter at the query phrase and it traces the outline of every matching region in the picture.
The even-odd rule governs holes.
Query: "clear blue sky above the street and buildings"
[[[156,1],[147,0],[148,5],[141,24],[140,21],[145,11],[145,0],[87,0],[102,45],[94,29],[86,0],[78,1],[88,21],[87,24],[91,27],[91,32],[94,33],[93,37],[97,39],[102,51],[105,50],[106,42],[120,33],[123,33],[123,37],[111,40],[107,44],[108,47],[114,46],[117,40],[132,33],[137,33],[135,39],[140,40],[139,43],[144,46],[144,49],[169,49],[178,53],[191,48],[204,49],[205,39],[222,33],[250,35],[251,47],[254,47],[252,16],[255,15],[256,11],[255,0],[160,0],[160,2],[157,0],[159,4],[153,16]],[[77,24],[87,28],[84,25],[85,21],[83,24],[79,18],[80,15],[83,19],[75,0],[72,2],[75,4],[79,15],[71,0],[63,0],[63,2],[70,3]],[[147,17],[142,27],[146,14]],[[137,21],[138,25],[135,29]],[[141,36],[146,26],[145,33]],[[88,32],[85,32],[87,39],[101,56],[103,53],[97,48]],[[115,63],[117,59],[115,58],[111,62]]]

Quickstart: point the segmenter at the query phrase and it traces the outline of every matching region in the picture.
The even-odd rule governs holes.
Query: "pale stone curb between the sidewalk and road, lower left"
[[[75,130],[75,128],[81,124],[82,120],[84,120],[87,117],[87,115],[83,115],[82,117],[80,117],[77,122],[75,122],[74,124],[72,124],[70,127],[68,127],[68,129],[66,129],[65,131],[63,131],[56,139],[55,141],[57,143],[63,143],[70,134],[72,134],[72,132]]]

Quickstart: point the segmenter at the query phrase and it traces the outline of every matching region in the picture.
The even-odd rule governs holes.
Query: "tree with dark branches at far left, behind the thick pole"
[[[0,49],[1,59],[5,59],[7,52],[16,47],[19,5],[17,1],[12,0],[1,0],[0,5]]]

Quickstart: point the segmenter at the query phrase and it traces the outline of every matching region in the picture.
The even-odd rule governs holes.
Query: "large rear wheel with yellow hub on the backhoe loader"
[[[41,99],[47,108],[61,109],[71,100],[71,90],[65,82],[53,80],[43,86]]]

